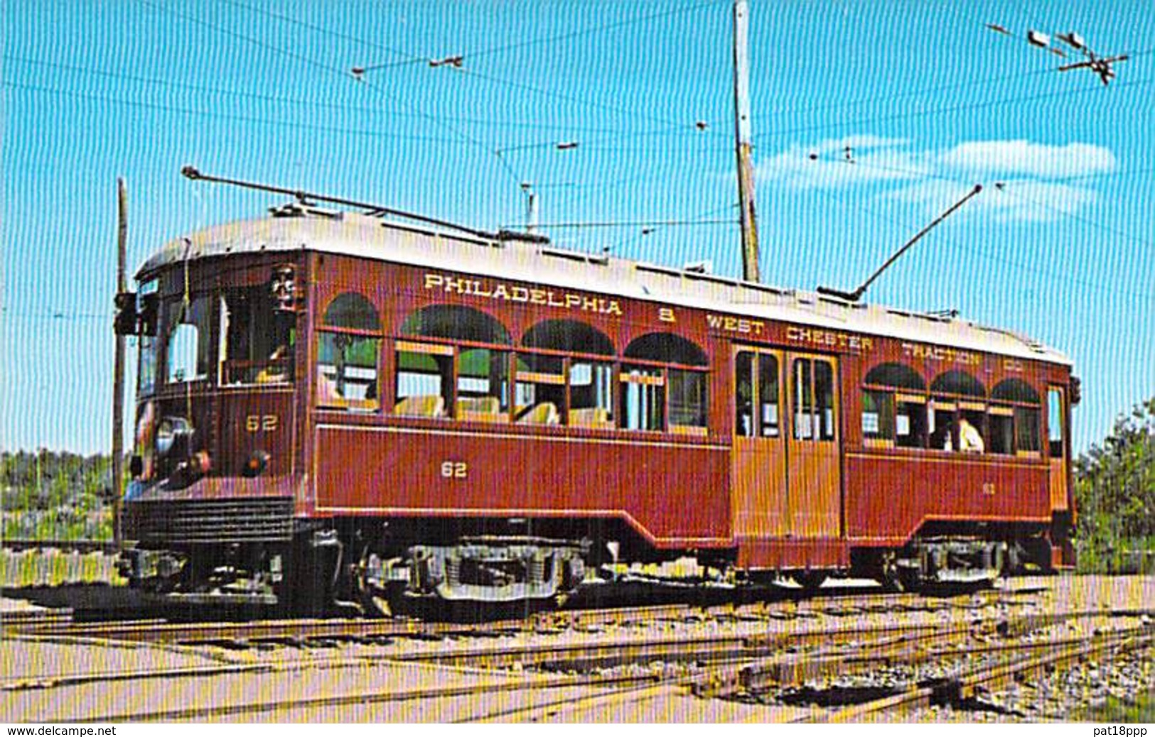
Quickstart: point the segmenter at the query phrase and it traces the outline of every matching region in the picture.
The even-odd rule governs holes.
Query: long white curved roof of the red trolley
[[[291,217],[267,217],[209,227],[169,242],[144,262],[137,275],[146,276],[186,260],[297,250],[522,280],[1071,364],[1067,356],[1036,340],[953,317],[874,304],[851,304],[812,292],[594,256],[542,243],[483,240],[351,212],[306,211]]]

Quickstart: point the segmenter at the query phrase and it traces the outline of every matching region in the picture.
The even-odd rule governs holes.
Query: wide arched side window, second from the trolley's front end
[[[394,414],[508,421],[509,331],[497,318],[431,304],[405,317],[401,334]]]

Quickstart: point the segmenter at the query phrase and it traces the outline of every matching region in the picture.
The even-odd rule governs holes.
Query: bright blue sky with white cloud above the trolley
[[[532,182],[558,243],[739,272],[729,0],[9,0],[0,24],[3,449],[109,444],[118,175],[132,268],[281,202],[194,164],[484,228]],[[1132,59],[1103,87],[1028,29]],[[750,46],[765,281],[852,288],[981,182],[867,301],[1071,355],[1076,448],[1155,393],[1148,0],[755,0]],[[562,227],[641,220],[683,224]]]

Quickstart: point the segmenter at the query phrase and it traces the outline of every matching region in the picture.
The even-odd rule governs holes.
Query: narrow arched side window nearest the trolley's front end
[[[337,295],[318,328],[318,398],[322,406],[377,409],[381,321],[356,292]]]

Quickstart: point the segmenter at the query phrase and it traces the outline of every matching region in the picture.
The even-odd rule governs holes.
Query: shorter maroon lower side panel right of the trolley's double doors
[[[848,536],[906,540],[925,519],[1050,519],[1046,466],[924,451],[847,454]]]

